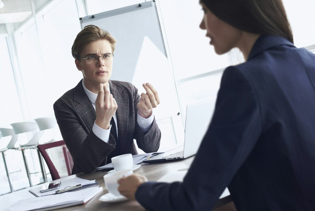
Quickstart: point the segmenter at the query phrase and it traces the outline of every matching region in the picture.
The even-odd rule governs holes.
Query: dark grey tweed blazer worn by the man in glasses
[[[128,82],[109,80],[111,93],[117,102],[118,142],[110,134],[106,143],[92,131],[96,113],[84,92],[82,80],[54,103],[54,112],[63,140],[73,159],[72,174],[91,173],[98,166],[111,162],[121,154],[137,154],[134,139],[144,152],[156,152],[160,146],[161,131],[153,121],[147,132],[137,124],[139,94]]]

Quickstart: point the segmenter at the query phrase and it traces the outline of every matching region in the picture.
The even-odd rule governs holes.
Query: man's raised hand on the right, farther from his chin
[[[152,115],[152,108],[156,108],[160,104],[160,98],[157,91],[150,83],[144,83],[146,93],[141,93],[140,101],[137,104],[138,113],[143,118],[149,118]]]

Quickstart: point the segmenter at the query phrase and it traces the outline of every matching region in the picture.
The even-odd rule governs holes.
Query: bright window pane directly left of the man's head
[[[50,9],[37,14],[38,34],[43,49],[49,89],[49,109],[53,103],[82,79],[71,55],[71,47],[81,31],[75,0],[53,1]],[[54,114],[53,114],[54,115]]]

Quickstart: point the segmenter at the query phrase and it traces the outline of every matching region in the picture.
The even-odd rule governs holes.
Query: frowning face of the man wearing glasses
[[[89,43],[80,53],[80,57],[102,56],[112,54],[112,48],[108,40],[102,39]],[[112,75],[113,57],[102,59],[98,57],[96,63],[88,64],[85,59],[76,59],[77,69],[82,71],[84,84],[87,87],[95,87],[100,83],[106,83]]]

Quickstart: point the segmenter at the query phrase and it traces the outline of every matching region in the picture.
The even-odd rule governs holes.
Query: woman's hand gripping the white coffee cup
[[[128,177],[120,178],[117,181],[119,184],[118,191],[121,195],[126,196],[128,199],[136,200],[135,193],[138,187],[147,181],[147,178],[140,174],[132,174]]]

